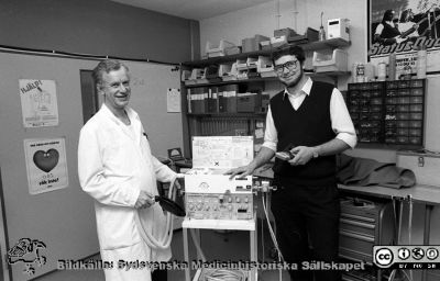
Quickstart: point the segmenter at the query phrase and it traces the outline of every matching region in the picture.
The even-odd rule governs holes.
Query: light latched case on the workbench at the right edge
[[[396,166],[413,170],[418,184],[440,187],[439,154],[399,150],[396,155]]]

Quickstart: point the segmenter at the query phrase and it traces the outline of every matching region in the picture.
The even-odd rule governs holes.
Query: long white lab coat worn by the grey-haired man
[[[103,104],[81,128],[78,176],[85,192],[95,199],[98,238],[103,261],[168,261],[170,249],[153,250],[141,238],[134,204],[141,190],[157,194],[156,180],[169,182],[176,173],[152,154],[139,115],[127,108],[130,131]],[[134,135],[133,133],[134,132]],[[166,217],[156,203],[142,211],[142,220],[157,239]],[[150,281],[150,270],[105,270],[106,280]]]

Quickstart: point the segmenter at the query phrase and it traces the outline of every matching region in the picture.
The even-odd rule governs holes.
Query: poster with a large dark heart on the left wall
[[[68,186],[65,139],[24,139],[29,193],[38,194]]]

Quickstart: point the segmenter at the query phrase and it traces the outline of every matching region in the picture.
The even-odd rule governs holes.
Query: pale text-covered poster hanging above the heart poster
[[[54,80],[19,79],[24,127],[58,125],[58,105]]]

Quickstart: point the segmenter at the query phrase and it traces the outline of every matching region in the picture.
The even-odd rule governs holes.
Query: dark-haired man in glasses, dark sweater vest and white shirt
[[[341,272],[307,270],[308,262],[338,262],[340,203],[336,155],[353,148],[356,135],[341,92],[304,74],[299,46],[278,48],[273,63],[285,89],[271,99],[264,144],[248,166],[229,171],[231,178],[252,175],[276,151],[292,159],[275,159],[272,213],[284,261],[295,281],[341,280]],[[302,269],[302,270],[301,270]],[[315,279],[314,279],[315,274]]]

